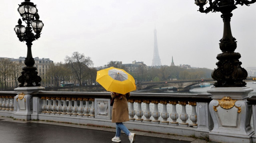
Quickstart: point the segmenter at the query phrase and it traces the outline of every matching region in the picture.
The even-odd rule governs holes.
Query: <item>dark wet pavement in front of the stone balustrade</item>
[[[116,129],[49,121],[22,121],[0,117],[1,143],[113,143]],[[207,143],[177,135],[131,131],[134,143]],[[130,143],[122,133],[122,143]]]

